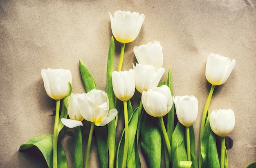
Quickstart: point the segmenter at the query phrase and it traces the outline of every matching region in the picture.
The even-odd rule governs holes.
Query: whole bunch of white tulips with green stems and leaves
[[[236,61],[218,54],[208,56],[205,76],[212,86],[202,112],[197,153],[193,124],[198,115],[198,99],[193,95],[173,95],[171,67],[167,81],[161,81],[165,68],[160,42],[134,47],[137,62],[131,63],[132,69],[122,69],[125,45],[139,35],[144,14],[116,11],[113,16],[109,15],[112,34],[121,43],[121,52],[118,69],[114,69],[115,42],[111,37],[106,91],[97,89],[90,70],[81,60],[79,68],[86,93],[72,93],[70,70],[42,69],[46,93],[56,100],[53,134],[35,137],[19,150],[36,146],[50,168],[66,168],[66,153],[70,151],[65,151],[58,140],[58,134],[66,126],[74,129],[74,168],[90,167],[93,134],[102,168],[146,167],[141,164],[141,157],[150,168],[163,165],[166,168],[227,168],[225,137],[234,129],[235,115],[229,107],[210,110],[209,104],[215,86],[227,81]],[[138,102],[132,99],[135,92]],[[117,124],[122,117],[123,130],[117,138]],[[91,122],[85,156],[83,120]],[[161,164],[162,158],[164,164]],[[248,168],[255,166],[253,163]]]

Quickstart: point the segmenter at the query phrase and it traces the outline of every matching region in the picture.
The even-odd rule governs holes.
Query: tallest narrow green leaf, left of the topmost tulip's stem
[[[109,99],[109,109],[115,108],[115,94],[112,87],[112,72],[114,71],[114,54],[115,54],[115,42],[113,36],[110,40],[108,49],[108,64],[107,64],[107,83],[106,92]],[[116,127],[115,119],[108,123],[108,153],[109,153],[109,168],[114,168],[115,161],[115,137]]]

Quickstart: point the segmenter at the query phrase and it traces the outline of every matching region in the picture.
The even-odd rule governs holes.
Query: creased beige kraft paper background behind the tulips
[[[193,94],[198,99],[197,141],[210,90],[204,72],[207,56],[215,53],[236,59],[228,81],[216,87],[209,110],[234,110],[229,168],[245,168],[256,161],[255,8],[254,0],[0,0],[0,167],[47,167],[39,152],[18,151],[29,139],[53,133],[55,101],[47,96],[40,71],[70,69],[72,91],[82,93],[81,59],[98,88],[105,90],[112,36],[108,11],[122,10],[145,14],[139,36],[126,45],[123,70],[136,61],[134,46],[160,41],[166,69],[162,79],[166,81],[172,67],[174,96]],[[119,52],[116,42],[116,69]],[[84,121],[84,125],[87,142],[90,123]],[[65,128],[60,135],[69,167],[72,132]],[[90,167],[99,167],[94,141]],[[147,167],[145,162],[142,167]]]

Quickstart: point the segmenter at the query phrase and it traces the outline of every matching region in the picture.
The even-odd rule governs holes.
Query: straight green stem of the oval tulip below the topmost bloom
[[[129,124],[128,124],[128,109],[127,109],[127,101],[124,101],[124,155],[123,155],[123,163],[122,168],[126,168],[126,161],[128,155],[128,140],[129,140]]]

